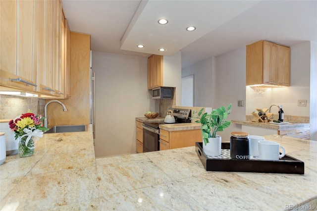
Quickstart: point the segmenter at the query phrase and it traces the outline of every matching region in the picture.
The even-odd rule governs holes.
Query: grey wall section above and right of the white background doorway
[[[182,69],[182,77],[194,75],[194,106],[196,107],[212,106],[214,63],[214,57],[211,57]]]

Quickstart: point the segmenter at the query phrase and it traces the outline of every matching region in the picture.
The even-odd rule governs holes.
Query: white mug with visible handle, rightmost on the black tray
[[[282,149],[282,155],[279,154]],[[259,158],[265,160],[279,160],[285,156],[285,148],[273,141],[259,141]]]

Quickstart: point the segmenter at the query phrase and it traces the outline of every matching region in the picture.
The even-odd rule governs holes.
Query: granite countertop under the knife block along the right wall
[[[310,127],[310,123],[303,122],[290,122],[289,124],[272,124],[269,122],[253,122],[253,121],[245,121],[245,120],[231,120],[232,123],[254,126],[254,127],[263,127],[267,129],[276,129],[276,130],[286,130],[286,129],[297,129]]]

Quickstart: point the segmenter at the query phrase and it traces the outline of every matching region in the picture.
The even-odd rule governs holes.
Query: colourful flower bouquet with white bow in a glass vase
[[[35,142],[43,137],[43,131],[48,130],[43,126],[44,119],[45,117],[42,117],[41,114],[35,115],[28,110],[27,113],[9,121],[9,127],[15,133],[15,140],[19,139],[20,157],[33,155]]]

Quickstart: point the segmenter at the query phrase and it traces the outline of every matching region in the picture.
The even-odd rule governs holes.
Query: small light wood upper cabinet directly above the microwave
[[[151,55],[148,58],[148,89],[163,86],[163,56]]]

